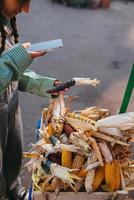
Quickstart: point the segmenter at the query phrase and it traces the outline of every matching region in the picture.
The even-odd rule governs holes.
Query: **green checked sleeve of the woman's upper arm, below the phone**
[[[0,56],[0,95],[11,81],[18,80],[20,75],[31,64],[32,56],[20,43],[4,51]]]

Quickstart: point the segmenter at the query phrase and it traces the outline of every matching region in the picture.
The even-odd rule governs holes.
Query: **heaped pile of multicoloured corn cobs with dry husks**
[[[34,190],[134,189],[134,112],[109,116],[97,107],[72,112],[72,99],[59,95],[50,101],[42,112],[39,140],[24,153]]]

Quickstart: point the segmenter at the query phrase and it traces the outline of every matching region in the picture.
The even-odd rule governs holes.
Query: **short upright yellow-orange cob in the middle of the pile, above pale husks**
[[[62,162],[62,166],[71,168],[71,166],[72,166],[72,152],[62,150],[61,162]]]

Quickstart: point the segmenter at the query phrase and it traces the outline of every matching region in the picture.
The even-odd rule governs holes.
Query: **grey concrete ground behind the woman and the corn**
[[[97,105],[119,110],[134,61],[134,4],[113,2],[109,10],[89,10],[32,0],[31,12],[18,17],[22,42],[63,39],[64,48],[33,62],[31,68],[42,75],[68,80],[91,77],[101,80],[96,88],[74,87],[68,94],[79,95],[73,108]],[[24,124],[24,146],[35,141],[34,128],[47,99],[20,94]],[[129,111],[134,110],[134,95]],[[26,172],[22,174],[25,185]]]

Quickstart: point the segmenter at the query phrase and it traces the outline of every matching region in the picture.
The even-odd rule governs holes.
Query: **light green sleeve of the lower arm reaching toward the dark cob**
[[[19,79],[19,90],[30,92],[41,97],[51,98],[46,90],[53,87],[56,79],[41,76],[31,70],[26,70]]]

